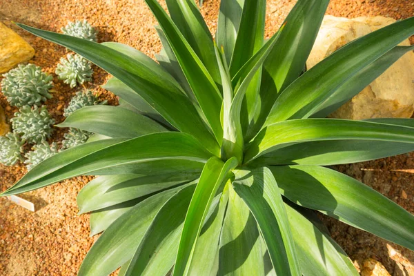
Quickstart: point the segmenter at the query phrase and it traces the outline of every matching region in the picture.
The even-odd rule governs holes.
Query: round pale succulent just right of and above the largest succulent
[[[62,57],[55,72],[70,88],[77,86],[77,83],[92,81],[92,63],[79,55],[68,54],[66,58]]]

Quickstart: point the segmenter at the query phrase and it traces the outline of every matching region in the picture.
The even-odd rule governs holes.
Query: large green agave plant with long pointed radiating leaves
[[[146,0],[159,63],[120,43],[19,24],[113,75],[122,106],[76,110],[93,141],[57,153],[2,195],[77,175],[92,235],[79,275],[357,275],[315,213],[414,249],[414,216],[326,168],[414,150],[414,121],[325,119],[411,47],[414,18],[306,72],[328,0],[299,0],[264,40],[265,0],[221,1],[215,40],[191,0]],[[160,119],[161,118],[161,119]]]

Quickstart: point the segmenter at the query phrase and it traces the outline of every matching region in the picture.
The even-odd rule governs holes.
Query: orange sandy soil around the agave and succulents
[[[293,0],[268,1],[266,37],[275,33],[294,4]],[[205,0],[201,9],[212,32],[216,28],[218,6],[218,0]],[[350,18],[382,15],[404,19],[414,15],[414,1],[332,0],[327,13]],[[12,21],[59,31],[68,21],[75,19],[87,19],[97,27],[100,42],[126,43],[150,57],[154,57],[161,49],[155,29],[152,28],[156,24],[155,19],[144,0],[0,1],[0,21],[16,30],[34,47],[36,55],[30,62],[43,67],[55,77],[55,97],[47,101],[46,105],[57,123],[63,121],[63,108],[76,92],[59,81],[54,73],[60,57],[66,55],[67,51],[19,30]],[[414,43],[414,40],[411,42]],[[95,68],[93,84],[88,83],[87,87],[100,92],[101,97],[108,99],[110,104],[117,104],[117,99],[110,92],[99,88],[107,79],[106,72]],[[5,108],[8,119],[17,111],[8,106],[2,95],[0,104]],[[65,131],[56,128],[50,140],[61,141]],[[413,153],[339,166],[337,169],[364,181],[414,213]],[[0,165],[0,190],[12,186],[25,172],[26,168],[21,165]],[[7,199],[0,199],[0,275],[76,275],[81,260],[96,240],[96,237],[89,237],[89,216],[77,215],[75,199],[88,180],[88,177],[77,177],[27,193],[23,197],[37,204],[35,213]],[[364,259],[373,257],[382,262],[391,275],[414,275],[413,252],[333,219],[324,218],[324,221],[357,268],[362,266]]]

